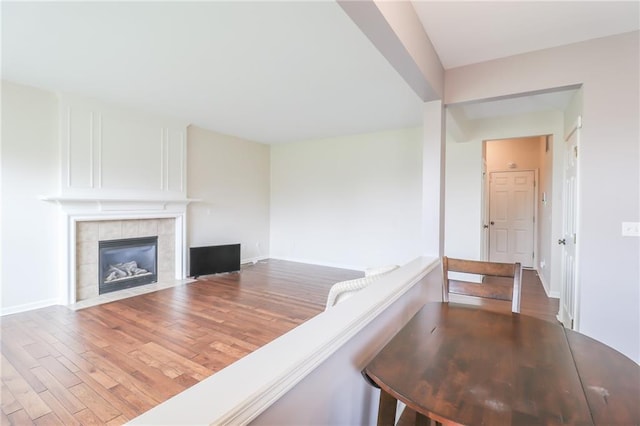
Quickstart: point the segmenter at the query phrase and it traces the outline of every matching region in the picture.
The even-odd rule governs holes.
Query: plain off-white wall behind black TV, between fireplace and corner
[[[242,261],[269,255],[269,146],[195,126],[188,134],[189,246],[240,243]]]

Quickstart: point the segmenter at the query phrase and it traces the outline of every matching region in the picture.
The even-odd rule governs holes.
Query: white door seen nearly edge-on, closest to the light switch
[[[580,121],[565,143],[564,192],[562,195],[562,237],[558,244],[562,246],[562,283],[560,290],[560,319],[565,327],[577,330],[578,280],[576,277],[577,242],[577,171],[578,140]]]

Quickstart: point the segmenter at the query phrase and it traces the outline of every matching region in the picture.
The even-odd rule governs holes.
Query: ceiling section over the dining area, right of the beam
[[[445,69],[640,29],[639,1],[414,1]]]

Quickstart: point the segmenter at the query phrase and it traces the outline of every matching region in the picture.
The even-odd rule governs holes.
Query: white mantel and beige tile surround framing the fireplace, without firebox
[[[43,200],[57,203],[62,214],[61,250],[68,262],[61,262],[60,293],[65,303],[72,305],[99,296],[100,241],[157,236],[157,284],[185,279],[187,204],[195,200],[83,196]],[[115,293],[104,296],[112,295]]]

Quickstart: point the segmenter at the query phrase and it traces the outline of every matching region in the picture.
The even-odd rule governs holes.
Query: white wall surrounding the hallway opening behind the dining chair
[[[466,122],[466,142],[456,142],[449,136],[445,212],[447,255],[467,255],[471,259],[480,259],[482,233],[485,232],[481,223],[483,141],[545,134],[552,135],[555,140],[562,140],[563,123],[562,112],[546,111]],[[558,152],[554,150],[554,146],[556,145],[552,143],[546,153],[546,176],[552,174],[553,177],[551,181],[544,183],[548,202],[543,211],[539,210],[538,215],[540,241],[536,267],[547,294],[559,297],[560,252],[554,243],[554,237],[560,235],[562,226],[562,160],[556,160],[556,157],[561,159],[563,153],[562,145]],[[532,155],[537,163],[538,153]],[[487,168],[490,168],[489,165]],[[544,262],[544,268],[540,267],[541,262]]]

